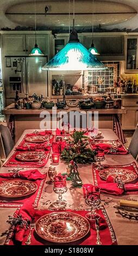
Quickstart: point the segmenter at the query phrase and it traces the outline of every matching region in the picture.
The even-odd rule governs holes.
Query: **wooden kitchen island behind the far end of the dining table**
[[[5,107],[3,109],[3,114],[5,115],[5,119],[7,123],[9,121],[10,115],[12,115],[13,120],[15,122],[15,142],[17,142],[18,138],[21,137],[22,133],[26,129],[40,129],[40,122],[45,119],[46,114],[49,114],[49,122],[52,129],[52,117],[55,118],[57,114],[61,111],[66,111],[67,113],[70,111],[74,111],[76,113],[81,112],[86,115],[86,119],[88,119],[89,113],[92,114],[92,121],[94,118],[94,112],[98,112],[99,115],[99,128],[108,128],[113,129],[114,127],[114,115],[122,115],[126,114],[127,110],[122,107],[121,109],[114,108],[101,108],[101,109],[80,109],[78,107],[71,107],[65,109],[54,109],[54,113],[52,109],[16,109],[14,107],[14,103]],[[41,114],[41,117],[40,117]],[[86,121],[87,122],[87,121]],[[46,124],[45,124],[46,125]],[[43,127],[45,129],[46,127]],[[84,127],[85,128],[85,127]]]

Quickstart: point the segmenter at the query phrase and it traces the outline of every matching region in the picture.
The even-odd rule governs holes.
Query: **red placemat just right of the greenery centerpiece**
[[[112,152],[110,151],[111,149],[111,142],[117,142],[117,143],[120,143],[120,146],[117,148],[117,152]],[[128,150],[127,148],[122,144],[122,142],[117,139],[116,141],[112,141],[112,140],[97,140],[95,141],[94,143],[92,141],[90,141],[90,145],[91,145],[91,148],[93,150],[95,149],[104,149],[104,153],[105,154],[114,154],[114,155],[126,155],[128,154]]]

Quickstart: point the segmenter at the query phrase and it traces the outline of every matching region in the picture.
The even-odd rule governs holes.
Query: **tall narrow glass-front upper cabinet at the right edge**
[[[138,36],[126,37],[126,73],[137,73],[138,69],[138,48],[137,48]]]

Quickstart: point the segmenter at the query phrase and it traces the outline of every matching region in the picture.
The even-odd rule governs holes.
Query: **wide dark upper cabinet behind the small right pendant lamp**
[[[96,35],[94,44],[100,56],[99,60],[124,60],[124,36],[123,35]],[[89,49],[92,44],[92,35],[84,35],[84,46]]]

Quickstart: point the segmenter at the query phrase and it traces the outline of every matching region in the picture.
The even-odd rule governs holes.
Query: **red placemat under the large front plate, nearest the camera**
[[[60,212],[64,212],[59,210]],[[79,214],[83,217],[85,217],[87,210],[66,210],[68,212],[74,212],[76,214]],[[52,213],[55,211],[51,210],[36,210],[35,211],[35,221],[38,220],[41,216]],[[108,215],[106,214],[106,211],[104,209],[104,206],[99,206],[97,210],[98,214],[101,215],[101,221],[99,221],[100,225],[100,238],[102,245],[117,245],[116,236],[114,233],[114,230],[112,228],[112,225],[110,223],[110,220],[108,218]],[[104,224],[103,224],[104,223]],[[26,241],[28,238],[29,229],[24,231],[23,235],[23,241],[22,245],[26,245]],[[32,238],[31,238],[31,245],[59,245],[59,243],[52,243],[45,240],[42,240],[36,233],[35,230],[32,231]],[[9,232],[9,235],[7,237],[7,240],[5,241],[5,245],[16,245],[16,241],[14,242],[14,228]],[[61,243],[60,243],[61,245]],[[96,245],[96,230],[92,227],[90,228],[89,234],[87,234],[83,239],[78,240],[76,242],[71,243],[64,243],[62,245]]]

